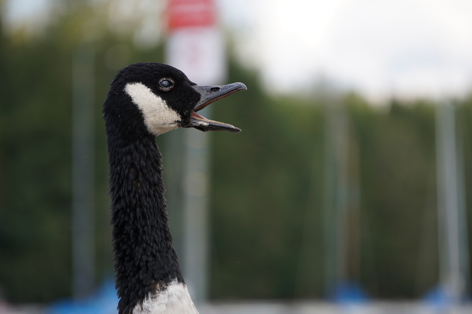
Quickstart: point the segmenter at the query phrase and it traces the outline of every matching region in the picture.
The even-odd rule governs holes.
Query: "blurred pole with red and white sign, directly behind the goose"
[[[169,0],[167,12],[166,62],[199,85],[221,84],[226,76],[226,59],[214,0]],[[210,118],[211,107],[199,113]],[[172,184],[175,191],[168,188],[169,216],[177,220],[170,222],[172,231],[178,233],[173,233],[175,248],[190,295],[198,304],[208,295],[210,134],[196,129],[182,133],[167,137],[168,141],[176,141],[166,145],[168,156],[177,157],[180,152],[184,155],[182,168],[177,170],[173,161],[176,174],[169,175],[180,183]],[[181,202],[176,198],[179,193],[183,196]]]

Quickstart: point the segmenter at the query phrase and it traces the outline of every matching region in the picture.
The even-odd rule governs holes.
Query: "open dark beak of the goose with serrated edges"
[[[194,112],[190,124],[187,128],[195,128],[201,131],[227,131],[231,133],[241,132],[240,129],[232,126],[231,124],[209,120],[202,117],[197,111],[202,110],[206,106],[214,103],[221,98],[228,97],[240,90],[247,89],[243,83],[233,83],[223,86],[192,86],[202,97],[200,101],[195,105]]]

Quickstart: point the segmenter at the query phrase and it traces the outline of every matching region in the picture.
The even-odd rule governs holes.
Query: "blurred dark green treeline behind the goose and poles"
[[[96,280],[113,276],[101,104],[119,68],[162,62],[163,45],[137,49],[132,32],[97,21],[75,7],[39,34],[1,32],[0,286],[13,302],[71,294],[71,58],[84,40],[96,58]],[[213,106],[243,132],[211,134],[211,298],[321,298],[329,101],[268,96],[255,73],[228,66],[248,90]],[[339,97],[360,184],[351,275],[373,297],[419,297],[438,281],[433,103]],[[456,108],[471,217],[472,99]]]

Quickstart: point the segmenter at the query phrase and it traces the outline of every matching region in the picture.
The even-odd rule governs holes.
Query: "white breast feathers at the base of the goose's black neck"
[[[149,293],[133,309],[133,314],[198,314],[187,286],[174,279],[166,287]]]

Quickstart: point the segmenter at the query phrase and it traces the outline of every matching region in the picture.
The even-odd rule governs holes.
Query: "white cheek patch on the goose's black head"
[[[180,115],[143,83],[127,83],[125,92],[143,113],[149,132],[158,136],[178,128]]]

